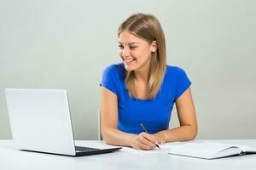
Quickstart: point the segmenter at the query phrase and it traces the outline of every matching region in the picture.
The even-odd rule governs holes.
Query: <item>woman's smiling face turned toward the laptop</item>
[[[156,51],[156,42],[148,43],[129,31],[119,34],[119,55],[126,71],[147,71],[151,53]]]

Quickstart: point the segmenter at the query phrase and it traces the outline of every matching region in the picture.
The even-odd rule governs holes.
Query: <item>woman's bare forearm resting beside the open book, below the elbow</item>
[[[160,133],[165,136],[166,142],[186,141],[195,139],[197,127],[183,125],[181,127],[161,131]]]

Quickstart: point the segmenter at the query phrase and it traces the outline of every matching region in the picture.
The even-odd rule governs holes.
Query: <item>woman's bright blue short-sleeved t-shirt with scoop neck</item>
[[[154,99],[132,98],[125,87],[125,65],[108,66],[101,85],[118,98],[118,129],[125,133],[142,133],[140,123],[148,133],[157,133],[169,127],[175,100],[189,88],[191,82],[185,71],[177,66],[166,66],[166,74],[159,93]]]

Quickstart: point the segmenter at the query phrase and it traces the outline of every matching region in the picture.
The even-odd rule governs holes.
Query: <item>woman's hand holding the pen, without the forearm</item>
[[[154,135],[148,133],[140,133],[132,135],[130,145],[137,150],[153,150],[159,144],[159,141]]]

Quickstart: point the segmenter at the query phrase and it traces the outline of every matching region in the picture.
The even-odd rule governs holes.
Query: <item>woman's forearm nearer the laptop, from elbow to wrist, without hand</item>
[[[102,137],[107,144],[131,146],[131,138],[136,134],[124,133],[113,127],[106,127]]]

